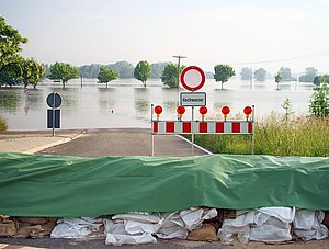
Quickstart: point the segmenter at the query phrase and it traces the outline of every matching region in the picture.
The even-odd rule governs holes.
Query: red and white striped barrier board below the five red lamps
[[[253,134],[248,121],[152,121],[152,134]]]

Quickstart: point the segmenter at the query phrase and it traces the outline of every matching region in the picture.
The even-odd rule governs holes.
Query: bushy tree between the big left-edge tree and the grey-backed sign
[[[45,68],[33,58],[30,58],[22,61],[21,72],[21,79],[24,88],[26,88],[29,84],[32,84],[33,88],[36,88],[37,83],[43,79]]]

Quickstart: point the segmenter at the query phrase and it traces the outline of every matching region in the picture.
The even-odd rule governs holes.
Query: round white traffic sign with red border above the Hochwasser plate
[[[204,86],[205,73],[200,67],[186,67],[181,73],[181,82],[184,89],[189,91],[196,91]]]

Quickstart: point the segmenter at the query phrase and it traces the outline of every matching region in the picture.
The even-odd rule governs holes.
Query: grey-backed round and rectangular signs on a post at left
[[[53,137],[55,136],[55,128],[60,128],[60,110],[57,109],[61,104],[61,97],[57,92],[53,92],[46,100],[49,107],[47,110],[47,128],[53,128]]]

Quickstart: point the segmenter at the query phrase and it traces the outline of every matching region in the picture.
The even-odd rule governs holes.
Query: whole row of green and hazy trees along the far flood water
[[[81,67],[75,67],[70,64],[55,63],[54,65],[44,65],[37,63],[33,58],[23,58],[20,55],[22,45],[27,42],[12,26],[5,23],[0,16],[0,87],[3,84],[15,86],[23,84],[27,87],[32,84],[34,88],[43,78],[49,78],[56,82],[61,82],[63,87],[70,79],[75,78],[98,78],[100,83],[107,83],[114,79],[136,78],[141,81],[143,86],[147,86],[148,79],[160,78],[163,84],[170,88],[178,88],[179,71],[184,66],[178,68],[172,63],[149,64],[146,60],[139,61],[136,67],[127,61],[117,61],[109,65],[91,64]],[[214,67],[213,72],[206,72],[207,78],[214,78],[223,84],[234,77],[235,70],[229,65],[220,64]],[[268,77],[264,68],[252,70],[252,68],[243,67],[240,71],[242,80],[254,79],[264,81]],[[298,78],[300,82],[319,82],[318,71],[314,67],[306,68],[303,76]],[[326,75],[324,76],[326,78]],[[296,80],[292,76],[291,69],[281,67],[275,76],[275,82]]]

